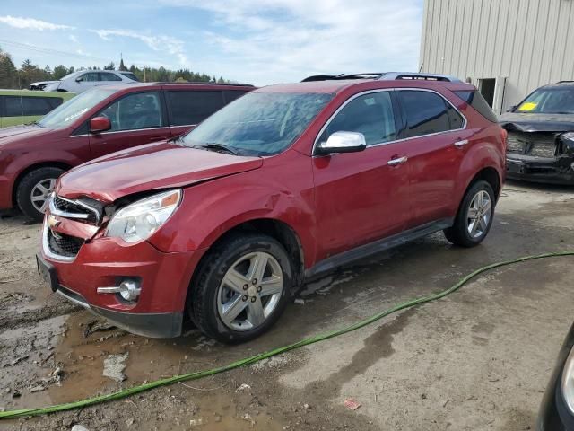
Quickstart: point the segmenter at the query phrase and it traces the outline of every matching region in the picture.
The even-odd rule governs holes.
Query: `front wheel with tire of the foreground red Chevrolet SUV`
[[[273,326],[289,301],[291,259],[266,235],[235,235],[198,268],[187,309],[204,334],[224,343],[255,339]]]

